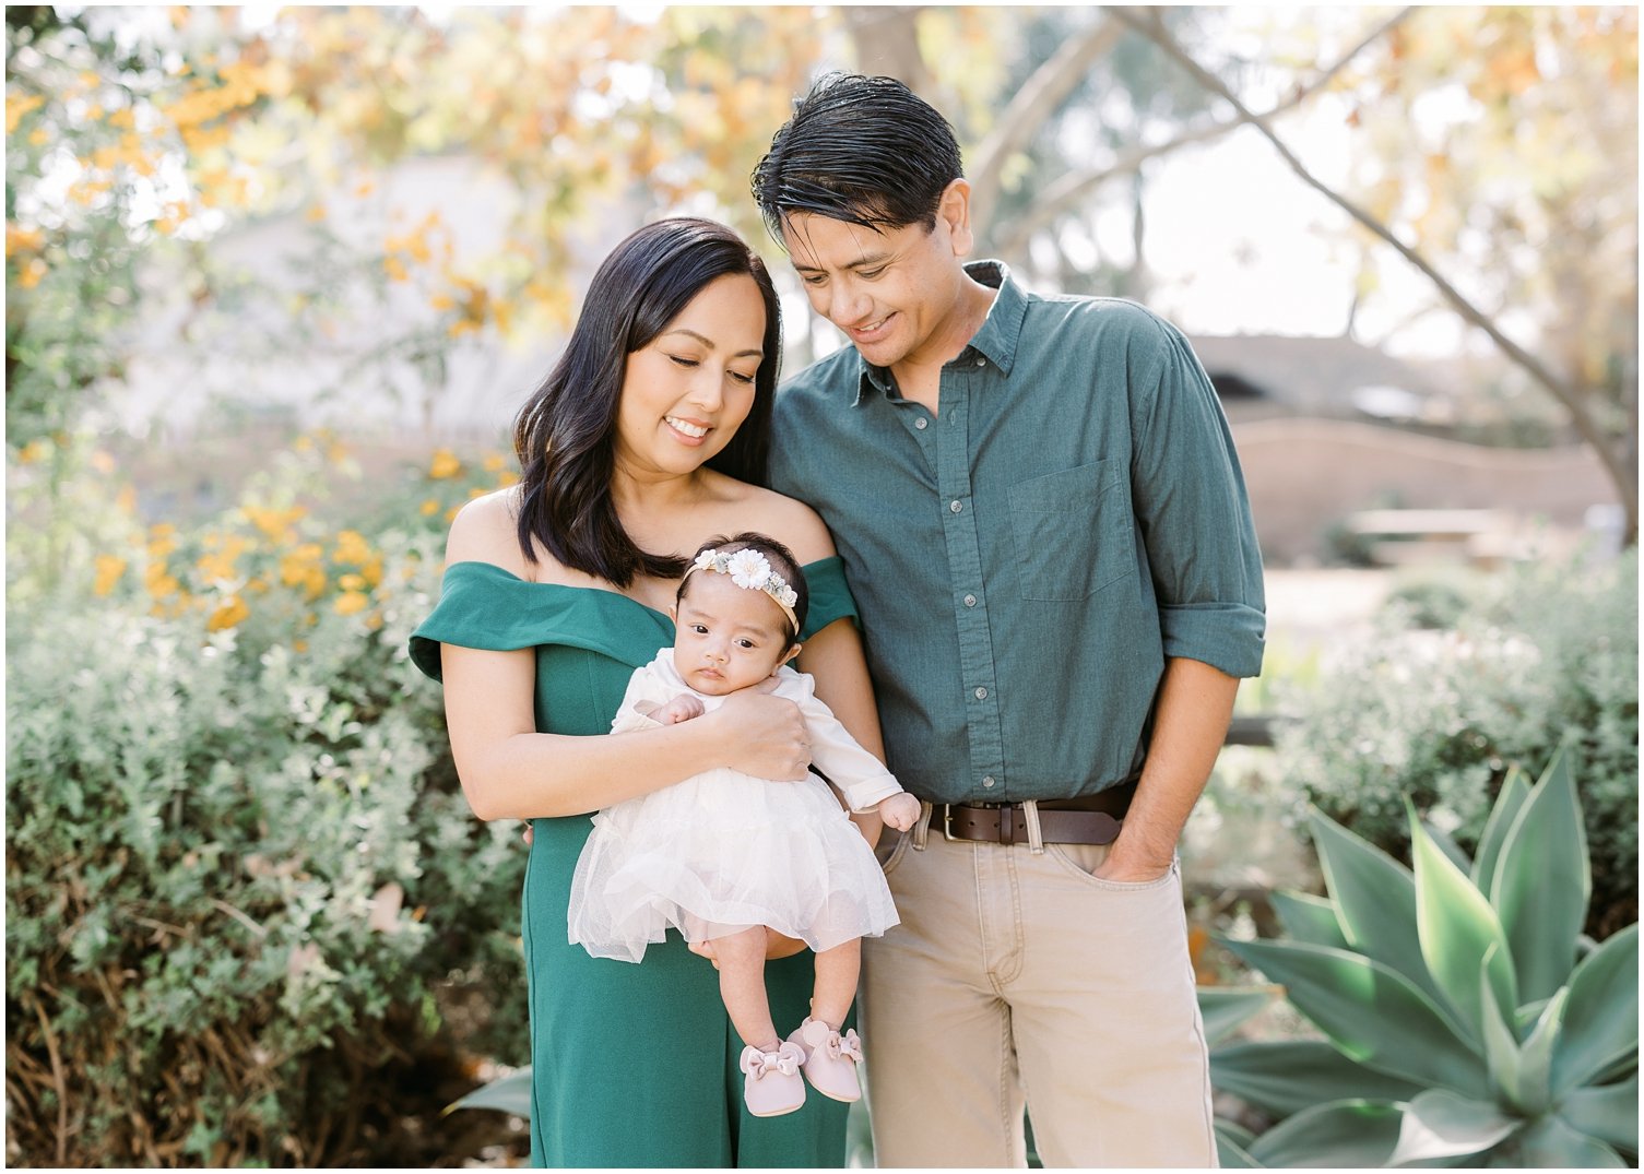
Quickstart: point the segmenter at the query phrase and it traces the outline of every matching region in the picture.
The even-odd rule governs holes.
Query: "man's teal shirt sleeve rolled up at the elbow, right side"
[[[1167,658],[1261,673],[1261,551],[1233,434],[1187,339],[1156,321],[1157,370],[1133,385],[1131,493]]]

